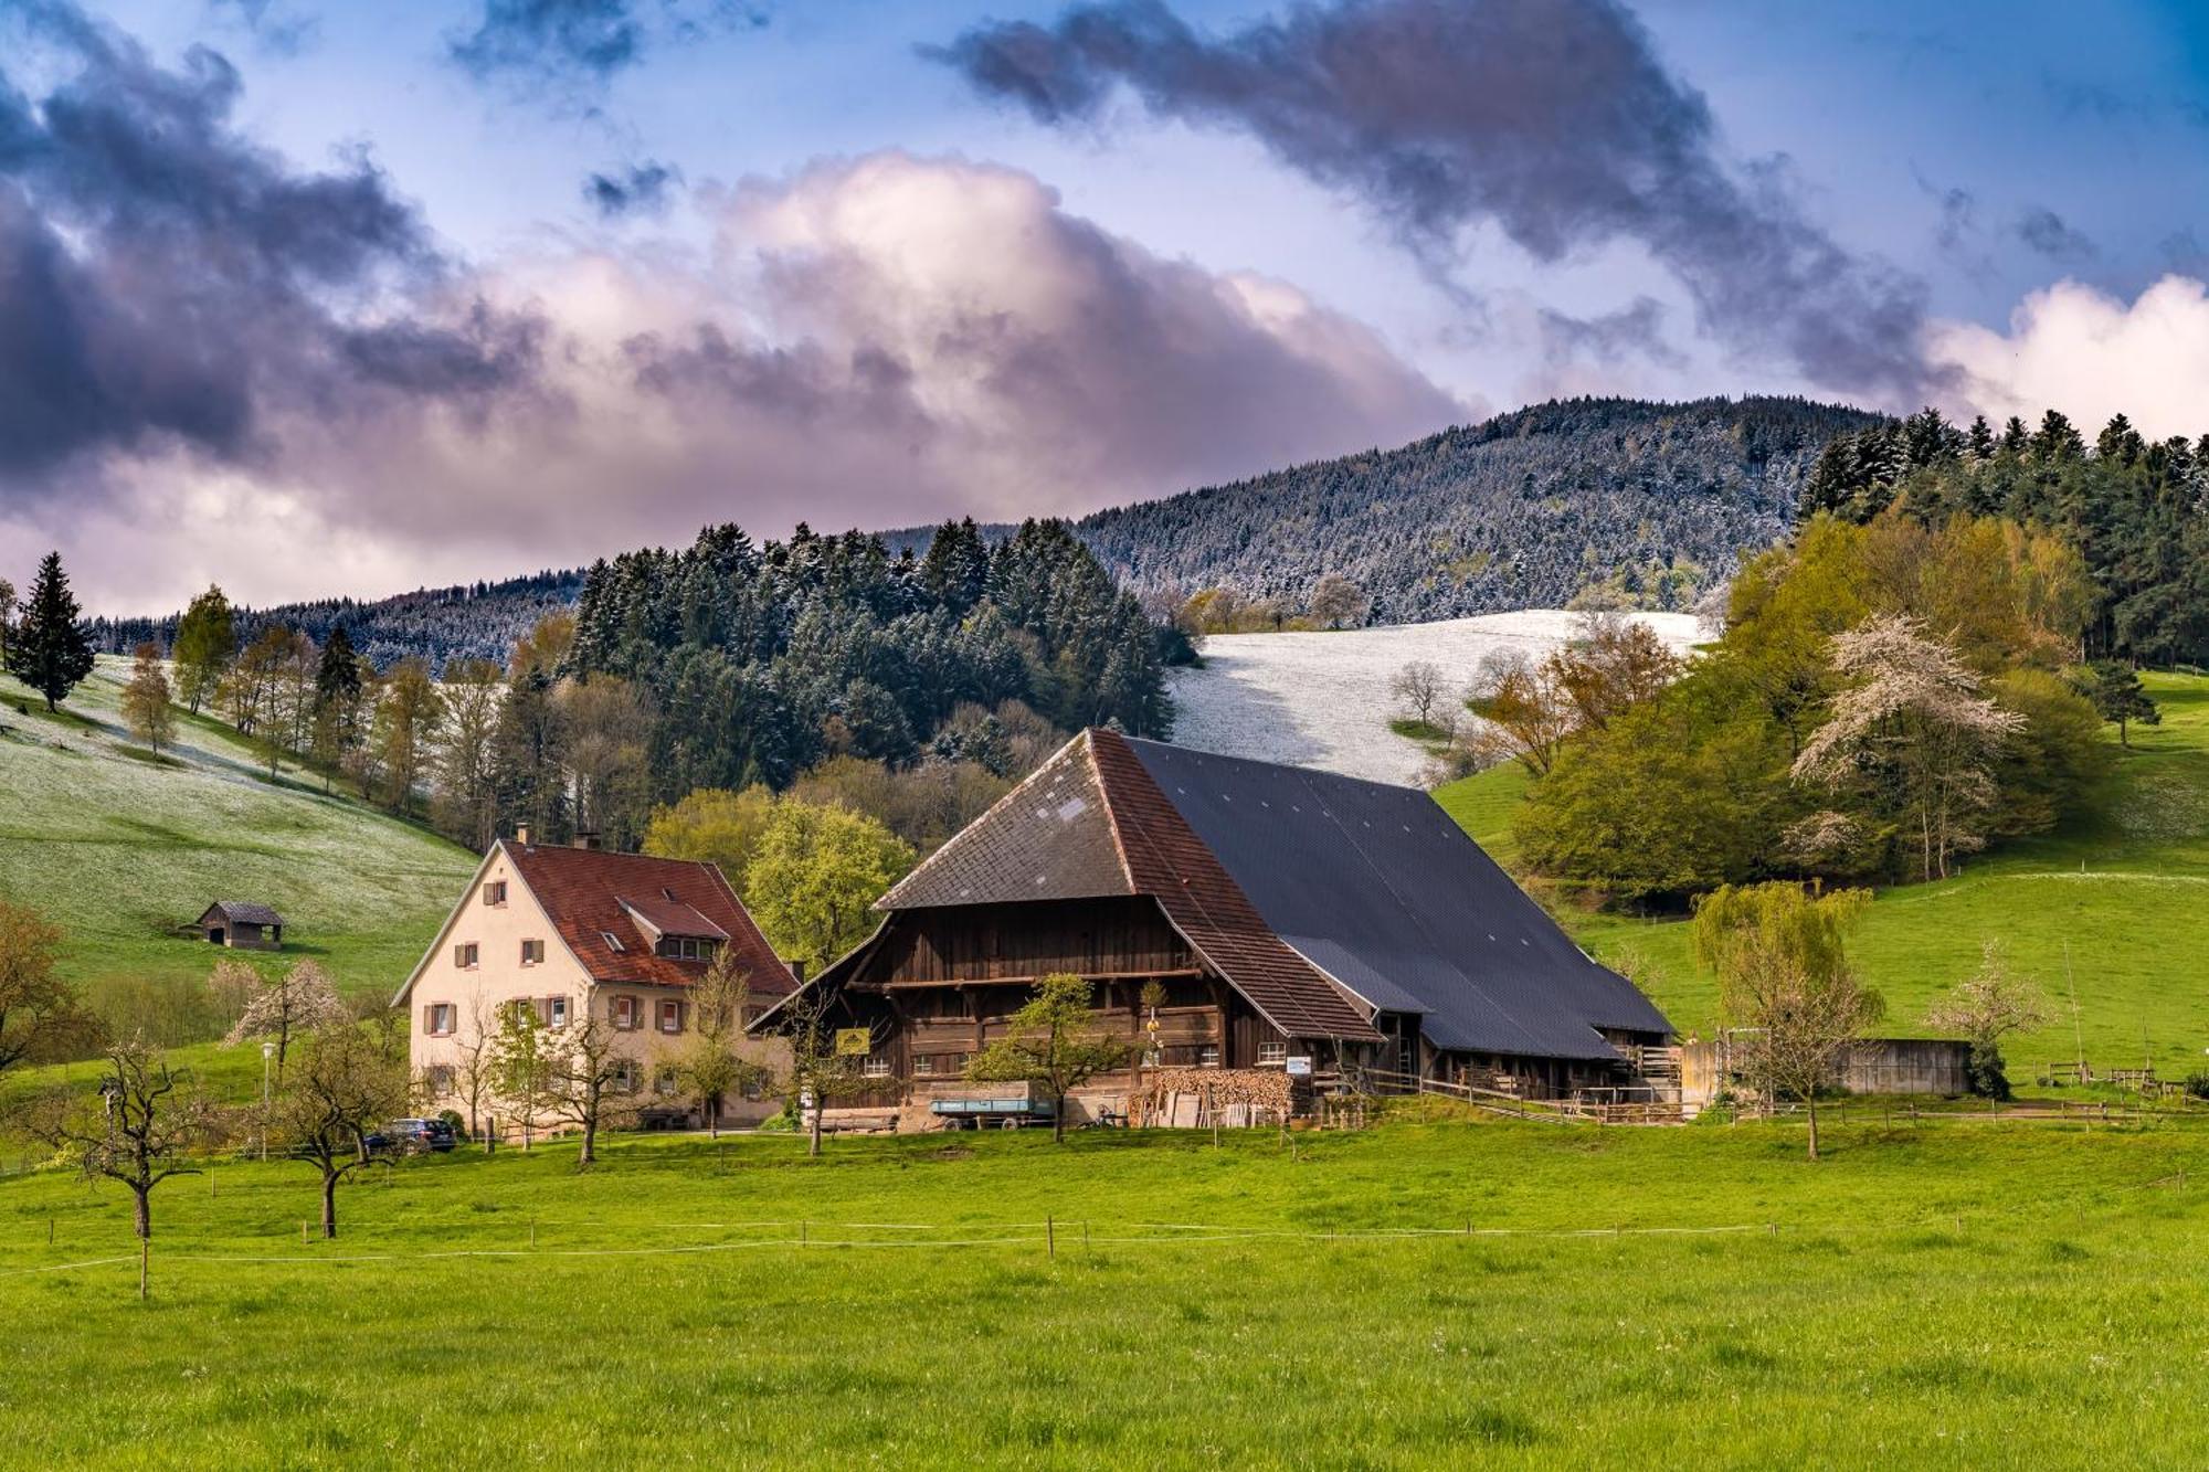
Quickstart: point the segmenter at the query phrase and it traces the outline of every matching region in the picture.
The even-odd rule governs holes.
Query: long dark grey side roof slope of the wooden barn
[[[1434,798],[1155,740],[1120,743],[1288,946],[1436,1048],[1617,1056],[1597,1028],[1670,1032]]]

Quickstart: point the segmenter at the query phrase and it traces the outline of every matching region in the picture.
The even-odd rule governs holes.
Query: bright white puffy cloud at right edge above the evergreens
[[[2076,281],[2032,292],[2006,332],[1940,323],[1931,358],[1955,374],[1951,407],[2088,429],[2127,413],[2154,438],[2209,431],[2209,287],[2165,276],[2129,305]]]

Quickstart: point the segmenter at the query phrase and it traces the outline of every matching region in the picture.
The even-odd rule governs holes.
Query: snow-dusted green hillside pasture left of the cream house
[[[155,758],[121,721],[128,670],[102,659],[55,716],[0,679],[0,895],[64,926],[64,972],[95,1001],[197,984],[214,950],[175,928],[212,900],[263,900],[292,922],[283,959],[314,957],[356,995],[395,986],[475,860],[289,763],[269,782],[216,721],[179,709]]]

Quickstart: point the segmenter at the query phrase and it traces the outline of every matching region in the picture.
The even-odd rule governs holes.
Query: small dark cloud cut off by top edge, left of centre
[[[663,40],[762,27],[767,9],[736,0],[482,0],[451,60],[479,82],[603,86]]]

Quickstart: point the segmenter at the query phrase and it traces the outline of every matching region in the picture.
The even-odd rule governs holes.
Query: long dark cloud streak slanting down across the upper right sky
[[[1124,86],[1370,206],[1438,276],[1493,221],[1542,261],[1639,243],[1732,347],[1915,402],[1922,283],[1836,243],[1783,164],[1721,159],[1701,93],[1613,0],[1336,0],[1206,35],[1160,0],[992,22],[934,51],[1054,126]]]

